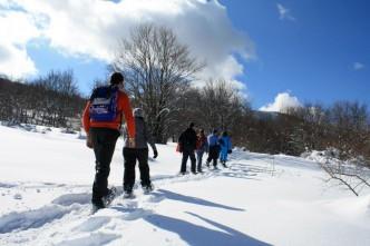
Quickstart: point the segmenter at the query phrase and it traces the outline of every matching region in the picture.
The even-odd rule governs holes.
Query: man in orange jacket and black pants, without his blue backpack
[[[114,72],[110,77],[109,88],[116,89],[116,116],[111,120],[95,120],[90,115],[93,107],[93,97],[87,102],[82,126],[87,134],[86,145],[94,148],[96,158],[96,174],[93,185],[93,207],[94,209],[104,208],[106,198],[111,195],[108,189],[108,176],[110,171],[110,161],[115,151],[116,141],[120,135],[120,126],[123,124],[123,115],[126,119],[128,128],[128,142],[135,147],[135,120],[129,104],[128,96],[121,90],[124,76],[120,72]]]

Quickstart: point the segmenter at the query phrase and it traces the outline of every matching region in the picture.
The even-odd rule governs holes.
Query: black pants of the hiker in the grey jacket
[[[135,149],[124,148],[125,158],[125,174],[124,174],[124,189],[133,189],[135,184],[135,166],[136,160],[139,163],[142,186],[150,185],[149,165],[148,165],[148,152],[147,148]]]

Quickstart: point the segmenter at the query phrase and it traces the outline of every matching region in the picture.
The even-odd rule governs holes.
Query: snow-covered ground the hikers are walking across
[[[90,215],[84,139],[42,127],[0,136],[0,245],[370,245],[370,189],[356,197],[325,183],[308,159],[235,150],[230,168],[182,177],[175,145],[159,145],[155,190]],[[109,177],[118,187],[121,146]]]

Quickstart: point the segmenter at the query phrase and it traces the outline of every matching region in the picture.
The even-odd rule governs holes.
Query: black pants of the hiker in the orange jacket
[[[90,135],[96,159],[91,201],[94,204],[100,204],[101,197],[108,194],[110,161],[119,137],[119,131],[109,128],[90,128]]]

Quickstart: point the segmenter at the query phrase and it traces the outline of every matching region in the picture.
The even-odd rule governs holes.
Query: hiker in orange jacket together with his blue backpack
[[[91,197],[94,210],[106,207],[113,193],[108,189],[108,176],[116,141],[120,135],[123,116],[128,126],[128,142],[135,146],[135,121],[123,86],[124,76],[114,72],[109,86],[94,89],[82,115],[82,126],[87,134],[86,145],[94,149],[96,159]]]

